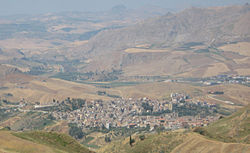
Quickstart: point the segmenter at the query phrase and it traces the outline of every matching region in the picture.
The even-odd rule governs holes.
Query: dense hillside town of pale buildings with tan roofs
[[[67,105],[70,99],[64,101]],[[54,106],[58,103],[54,102]],[[51,105],[52,106],[52,105]],[[48,108],[47,106],[44,106]],[[38,108],[38,107],[37,107]],[[39,107],[42,109],[43,107]],[[81,128],[164,127],[166,130],[206,126],[218,119],[214,104],[192,101],[185,94],[173,93],[171,100],[148,98],[86,101],[73,111],[54,110],[56,120],[76,123]]]

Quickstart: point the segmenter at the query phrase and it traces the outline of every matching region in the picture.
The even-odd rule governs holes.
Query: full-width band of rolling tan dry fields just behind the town
[[[24,99],[28,102],[48,103],[53,99],[62,101],[67,97],[83,98],[87,100],[103,99],[110,100],[112,97],[107,95],[98,95],[98,91],[105,91],[109,95],[117,95],[123,98],[141,98],[151,99],[169,98],[173,92],[186,93],[193,98],[205,100],[208,102],[220,103],[208,96],[209,91],[223,91],[219,99],[227,99],[235,104],[249,104],[249,87],[243,85],[216,85],[216,86],[194,86],[187,83],[172,82],[152,82],[134,85],[122,85],[112,88],[100,88],[95,84],[81,84],[61,79],[42,79],[33,76],[21,74],[9,75],[6,79],[0,81],[0,97],[10,101],[20,101]],[[110,82],[99,82],[103,85]],[[9,94],[9,95],[8,95]]]

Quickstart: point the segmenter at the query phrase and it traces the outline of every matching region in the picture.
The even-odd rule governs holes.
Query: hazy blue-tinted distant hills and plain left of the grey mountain
[[[101,31],[127,27],[166,12],[158,7],[116,6],[102,12],[1,16],[0,64],[32,75],[80,72],[87,60],[75,54],[75,48]]]

